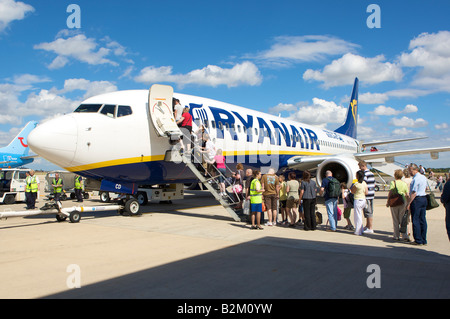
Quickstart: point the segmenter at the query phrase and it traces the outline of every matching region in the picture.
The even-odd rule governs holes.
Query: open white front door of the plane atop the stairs
[[[152,85],[148,95],[148,114],[158,136],[177,140],[181,137],[181,130],[173,117],[172,97],[171,86]]]

